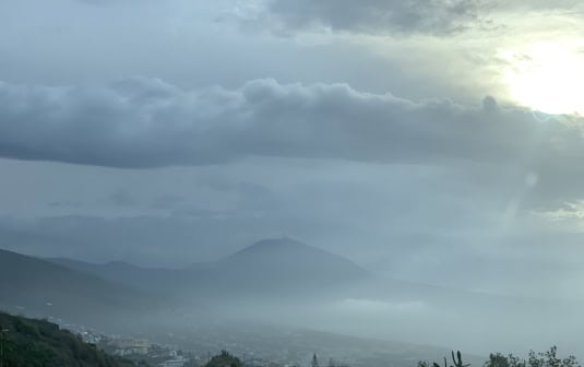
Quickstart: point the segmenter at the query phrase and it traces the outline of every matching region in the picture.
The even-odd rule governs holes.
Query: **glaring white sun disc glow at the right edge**
[[[503,55],[504,82],[514,102],[547,114],[584,115],[584,48],[555,42]]]

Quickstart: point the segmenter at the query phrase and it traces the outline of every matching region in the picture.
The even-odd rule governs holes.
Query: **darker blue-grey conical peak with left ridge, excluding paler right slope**
[[[305,295],[333,292],[370,275],[350,260],[290,238],[265,239],[214,262],[180,269],[148,269],[128,263],[92,264],[47,259],[75,271],[156,293],[199,297],[239,294]]]

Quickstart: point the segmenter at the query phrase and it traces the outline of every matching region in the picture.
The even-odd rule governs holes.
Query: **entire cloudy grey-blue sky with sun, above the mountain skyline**
[[[584,5],[3,0],[0,242],[183,267],[290,236],[583,298]]]

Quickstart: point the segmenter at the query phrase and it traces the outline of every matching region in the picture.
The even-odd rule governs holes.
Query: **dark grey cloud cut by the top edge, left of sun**
[[[269,10],[288,29],[324,26],[358,33],[449,34],[479,19],[478,0],[274,0]]]

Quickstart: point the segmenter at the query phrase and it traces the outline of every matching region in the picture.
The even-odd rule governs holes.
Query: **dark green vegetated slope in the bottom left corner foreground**
[[[109,356],[82,342],[55,323],[0,312],[3,366],[130,367],[132,363]]]

